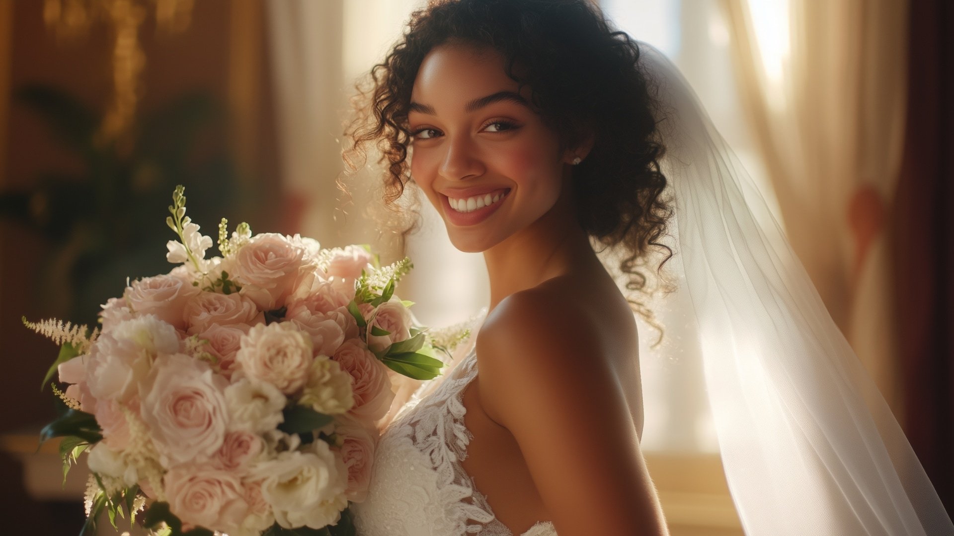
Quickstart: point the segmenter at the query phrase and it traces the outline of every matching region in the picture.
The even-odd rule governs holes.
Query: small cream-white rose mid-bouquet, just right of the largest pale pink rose
[[[232,414],[232,428],[262,433],[282,421],[285,396],[267,381],[242,378],[225,388],[225,403]]]

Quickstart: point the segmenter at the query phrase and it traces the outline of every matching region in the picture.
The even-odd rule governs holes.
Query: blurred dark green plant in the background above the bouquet
[[[0,217],[50,245],[35,296],[53,316],[93,323],[99,304],[121,296],[127,277],[169,271],[168,229],[156,222],[176,184],[201,207],[199,221],[235,213],[247,198],[231,156],[209,143],[210,134],[224,132],[225,113],[207,93],[183,93],[141,113],[120,139],[104,139],[104,114],[59,88],[28,85],[13,96],[82,163],[79,173],[51,170],[28,188],[0,192]]]

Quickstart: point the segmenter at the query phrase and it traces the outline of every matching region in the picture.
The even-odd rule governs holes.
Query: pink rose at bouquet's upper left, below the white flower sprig
[[[153,314],[176,329],[185,329],[182,313],[186,303],[201,292],[186,278],[162,275],[142,278],[126,288],[126,303],[136,315]]]

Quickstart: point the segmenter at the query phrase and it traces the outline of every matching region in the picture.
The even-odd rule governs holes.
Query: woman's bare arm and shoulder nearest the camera
[[[582,314],[501,301],[477,339],[480,398],[508,428],[561,535],[669,534],[629,404]]]

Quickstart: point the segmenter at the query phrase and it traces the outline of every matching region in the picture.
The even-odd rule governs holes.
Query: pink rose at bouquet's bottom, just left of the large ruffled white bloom
[[[248,513],[245,487],[227,471],[204,464],[176,465],[162,480],[170,509],[183,524],[231,531]]]

